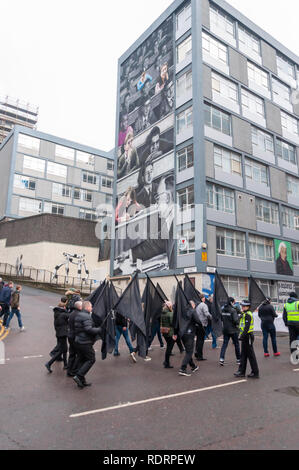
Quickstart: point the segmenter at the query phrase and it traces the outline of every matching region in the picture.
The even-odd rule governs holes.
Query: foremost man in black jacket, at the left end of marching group
[[[92,304],[88,301],[83,302],[82,311],[78,312],[74,321],[75,329],[75,349],[78,354],[77,375],[73,378],[79,388],[88,387],[85,375],[92,368],[96,361],[94,343],[99,338],[102,328],[93,326],[91,313]]]

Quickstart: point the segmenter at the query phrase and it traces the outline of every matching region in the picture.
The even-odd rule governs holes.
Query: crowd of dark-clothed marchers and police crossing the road
[[[165,349],[163,366],[165,369],[173,369],[171,356],[173,348],[177,344],[182,354],[179,375],[190,377],[199,369],[199,363],[205,361],[205,340],[212,335],[212,347],[220,349],[217,345],[217,337],[212,329],[212,303],[213,297],[206,298],[198,293],[197,299],[188,299],[184,307],[183,318],[185,322],[184,334],[175,321],[176,305],[165,300],[161,311],[155,316],[150,325],[150,334],[146,342],[146,356],[144,361],[150,361],[150,351],[155,336],[158,336],[161,349]],[[89,300],[83,300],[80,291],[71,289],[66,292],[54,308],[54,327],[57,345],[51,351],[50,361],[45,364],[49,373],[55,361],[63,361],[64,369],[68,377],[73,378],[80,389],[91,384],[86,381],[86,375],[96,361],[94,344],[99,339],[103,340],[102,326],[96,326],[93,321],[93,304]],[[277,346],[275,319],[277,314],[270,298],[265,298],[258,309],[263,332],[264,356],[269,357],[268,339],[271,337],[273,355],[280,356]],[[129,316],[129,315],[128,315]],[[290,298],[284,306],[283,320],[289,328],[291,352],[296,350],[294,341],[299,340],[299,299],[295,292],[290,293]],[[120,315],[117,310],[113,312],[114,325],[114,350],[115,357],[119,356],[119,340],[124,337],[129,358],[133,363],[137,362],[136,353],[138,344],[133,345],[134,340],[130,337],[130,320]],[[240,304],[232,297],[228,298],[226,305],[221,309],[221,326],[223,344],[220,351],[219,364],[225,366],[225,355],[230,340],[234,345],[236,363],[238,370],[236,377],[246,377],[247,363],[251,371],[248,378],[260,378],[257,358],[254,351],[254,317],[251,311],[251,302],[246,299]],[[165,344],[164,344],[165,341]],[[299,342],[298,342],[299,344]]]

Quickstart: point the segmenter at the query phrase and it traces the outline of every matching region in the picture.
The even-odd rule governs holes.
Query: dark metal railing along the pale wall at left
[[[83,293],[91,293],[99,285],[99,281],[94,279],[82,280],[72,276],[54,276],[46,269],[36,269],[23,267],[19,270],[16,266],[8,263],[0,263],[0,274],[6,277],[20,279],[34,284],[47,284],[53,287],[70,289],[72,287],[80,289]]]

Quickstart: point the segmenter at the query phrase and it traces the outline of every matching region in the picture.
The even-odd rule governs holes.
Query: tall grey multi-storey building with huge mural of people
[[[299,287],[298,67],[223,0],[174,1],[120,58],[111,273]]]

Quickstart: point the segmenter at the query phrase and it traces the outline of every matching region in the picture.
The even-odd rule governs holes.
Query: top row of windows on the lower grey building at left
[[[25,134],[19,134],[18,150],[22,152],[24,151],[24,149],[26,149],[29,153],[39,154],[40,142],[40,139],[37,139],[36,137],[31,137]],[[89,166],[91,169],[94,169],[95,167],[95,159],[100,158],[86,152],[81,152],[79,150],[75,151],[75,149],[71,147],[65,147],[62,145],[55,145],[54,153],[55,157],[67,160],[68,162],[70,162],[69,164],[74,165],[74,162],[76,160],[77,165],[84,164]],[[113,171],[114,162],[106,159],[106,164],[107,170]]]

